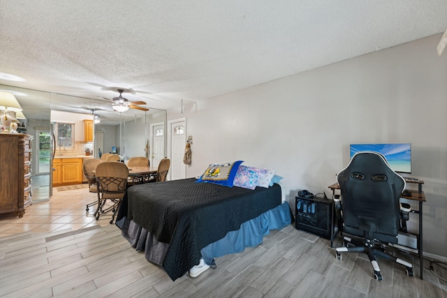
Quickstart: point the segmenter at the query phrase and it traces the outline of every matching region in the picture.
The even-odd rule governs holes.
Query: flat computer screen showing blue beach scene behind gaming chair
[[[411,174],[411,144],[351,144],[351,158],[357,152],[374,151],[385,156],[395,172]]]

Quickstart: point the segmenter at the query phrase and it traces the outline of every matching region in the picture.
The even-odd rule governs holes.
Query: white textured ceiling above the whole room
[[[169,109],[441,33],[446,15],[444,0],[0,0],[0,72],[26,80],[0,84],[122,87]]]

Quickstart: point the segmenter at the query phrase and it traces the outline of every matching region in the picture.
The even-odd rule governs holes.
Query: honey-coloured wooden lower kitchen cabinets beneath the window
[[[54,158],[53,187],[82,184],[82,158]]]

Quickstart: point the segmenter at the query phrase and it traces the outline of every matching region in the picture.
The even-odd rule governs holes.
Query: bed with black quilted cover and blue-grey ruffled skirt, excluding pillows
[[[214,258],[257,245],[268,230],[290,223],[278,184],[249,190],[193,178],[132,186],[117,216],[123,236],[173,281],[200,258],[211,265]]]

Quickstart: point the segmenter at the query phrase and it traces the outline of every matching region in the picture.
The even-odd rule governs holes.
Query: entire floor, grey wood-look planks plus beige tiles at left
[[[372,278],[366,255],[335,258],[330,241],[289,225],[263,244],[216,260],[197,278],[173,282],[131,248],[108,215],[96,221],[87,189],[55,190],[23,218],[0,214],[0,297],[444,297],[447,283],[429,270],[418,278],[379,260],[383,281]],[[341,244],[337,239],[336,245]],[[413,260],[414,258],[414,260]],[[429,264],[425,262],[425,267]]]

